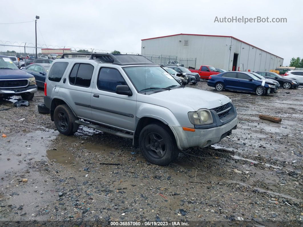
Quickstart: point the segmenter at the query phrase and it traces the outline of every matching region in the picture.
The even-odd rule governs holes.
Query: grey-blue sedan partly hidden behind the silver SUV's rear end
[[[25,68],[22,68],[22,70],[28,72],[29,74],[32,74],[36,79],[37,86],[44,88],[45,77],[50,66],[51,64],[34,63],[26,66]]]

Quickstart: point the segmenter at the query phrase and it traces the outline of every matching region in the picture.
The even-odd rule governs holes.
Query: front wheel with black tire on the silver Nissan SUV
[[[155,165],[168,165],[179,154],[172,132],[166,125],[146,125],[139,135],[139,147],[145,159]]]

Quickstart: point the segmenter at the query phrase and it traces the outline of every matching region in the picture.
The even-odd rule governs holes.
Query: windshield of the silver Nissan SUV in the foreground
[[[180,86],[168,72],[159,66],[124,67],[124,71],[138,91],[146,88],[161,89]]]

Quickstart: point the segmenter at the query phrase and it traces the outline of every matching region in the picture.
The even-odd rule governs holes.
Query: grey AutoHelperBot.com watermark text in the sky
[[[215,17],[214,23],[287,23],[287,18],[269,18],[269,17]]]

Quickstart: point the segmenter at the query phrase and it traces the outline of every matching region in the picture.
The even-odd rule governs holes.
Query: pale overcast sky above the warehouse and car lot
[[[288,65],[291,57],[303,58],[302,8],[303,1],[292,0],[5,1],[0,23],[32,21],[39,15],[40,45],[137,53],[143,38],[231,35],[284,58]],[[216,16],[287,18],[287,23],[214,23]],[[0,24],[0,29],[2,42],[35,43],[34,22]]]

